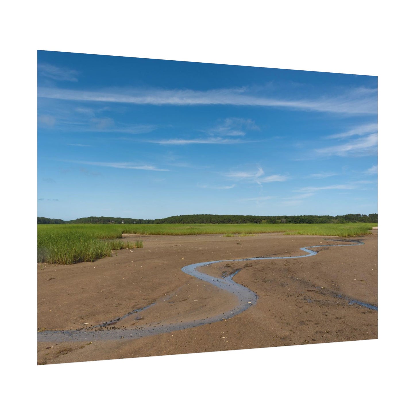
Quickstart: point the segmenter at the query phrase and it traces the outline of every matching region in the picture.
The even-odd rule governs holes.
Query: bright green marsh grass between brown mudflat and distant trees
[[[346,224],[124,224],[37,225],[38,262],[74,264],[110,256],[112,250],[142,248],[143,242],[124,242],[123,233],[140,235],[222,234],[252,236],[283,232],[287,235],[356,237],[371,233],[377,223]]]

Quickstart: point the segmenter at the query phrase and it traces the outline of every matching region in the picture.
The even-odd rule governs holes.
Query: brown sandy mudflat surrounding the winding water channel
[[[125,236],[143,239],[92,263],[39,265],[38,328],[73,330],[116,319],[151,303],[142,323],[196,320],[236,304],[232,294],[181,271],[188,264],[255,256],[296,256],[300,247],[335,244],[336,237],[256,234],[253,237]],[[377,230],[352,238],[364,245],[321,248],[308,258],[223,262],[203,272],[238,268],[238,283],[258,302],[229,320],[142,339],[39,342],[38,364],[119,359],[377,338]],[[342,242],[340,242],[342,243]],[[343,298],[339,298],[342,295]],[[121,323],[120,323],[121,324]],[[133,327],[134,320],[122,320]]]

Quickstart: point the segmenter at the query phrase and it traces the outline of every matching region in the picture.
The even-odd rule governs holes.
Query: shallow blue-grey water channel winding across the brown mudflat
[[[329,239],[333,241],[344,242],[341,239]],[[207,262],[199,262],[198,264],[190,264],[183,266],[182,271],[188,275],[194,276],[199,278],[202,281],[206,281],[218,288],[228,291],[237,296],[239,303],[236,307],[232,308],[231,310],[227,310],[226,312],[222,312],[222,314],[205,317],[200,320],[193,320],[186,321],[186,322],[178,322],[178,323],[169,323],[169,324],[157,324],[153,323],[150,325],[143,325],[142,327],[136,327],[134,329],[127,329],[127,328],[120,328],[115,327],[114,325],[124,320],[126,317],[129,317],[132,314],[137,313],[137,317],[135,320],[140,320],[139,312],[153,306],[156,303],[147,305],[144,308],[140,308],[137,310],[132,310],[131,312],[127,313],[126,315],[119,317],[115,320],[111,320],[109,322],[104,322],[100,325],[96,325],[93,327],[88,327],[88,329],[77,329],[77,330],[45,330],[42,332],[38,332],[37,339],[39,342],[68,342],[68,341],[85,341],[85,340],[110,340],[110,339],[137,339],[144,336],[149,336],[152,334],[160,334],[160,333],[168,333],[177,330],[184,330],[191,327],[197,327],[205,324],[212,324],[213,322],[218,322],[221,320],[227,320],[247,308],[251,307],[256,303],[258,299],[258,295],[256,295],[253,291],[249,290],[249,288],[244,287],[235,281],[233,281],[233,277],[240,271],[237,270],[231,275],[225,277],[212,277],[207,275],[203,272],[198,271],[200,267],[208,266],[210,264],[216,264],[218,262],[240,262],[240,261],[258,261],[258,260],[276,260],[276,259],[294,259],[294,258],[306,258],[308,256],[317,255],[318,251],[313,251],[310,248],[320,248],[320,247],[349,247],[353,245],[363,245],[363,242],[359,241],[351,241],[355,242],[353,244],[330,244],[330,245],[313,245],[311,247],[304,247],[300,248],[302,251],[307,252],[307,255],[299,255],[299,256],[266,256],[266,257],[255,257],[255,258],[244,258],[244,259],[222,259],[220,261],[207,261]],[[342,297],[342,296],[339,296]],[[344,297],[342,297],[344,298]],[[348,301],[349,305],[360,305],[366,308],[370,308],[371,310],[377,310],[378,308],[371,304],[362,303],[360,301],[351,299],[351,298],[344,298]]]

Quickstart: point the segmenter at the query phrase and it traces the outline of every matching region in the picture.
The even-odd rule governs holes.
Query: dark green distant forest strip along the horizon
[[[349,223],[366,222],[377,223],[378,214],[350,213],[349,215],[303,215],[303,216],[253,216],[253,215],[180,215],[169,216],[164,219],[131,219],[129,217],[105,217],[89,216],[74,220],[49,219],[37,217],[38,224],[59,223]]]

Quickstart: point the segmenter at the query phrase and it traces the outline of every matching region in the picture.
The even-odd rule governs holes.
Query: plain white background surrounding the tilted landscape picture
[[[2,7],[7,413],[402,413],[413,347],[409,2],[36,1]],[[37,49],[376,75],[379,339],[36,365]],[[406,265],[405,265],[406,264]],[[409,378],[409,382],[412,379]]]

